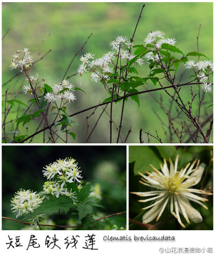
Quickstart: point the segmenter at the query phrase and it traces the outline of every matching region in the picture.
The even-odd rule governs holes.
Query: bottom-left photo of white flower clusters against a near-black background
[[[2,230],[126,230],[125,146],[3,146],[2,157]]]

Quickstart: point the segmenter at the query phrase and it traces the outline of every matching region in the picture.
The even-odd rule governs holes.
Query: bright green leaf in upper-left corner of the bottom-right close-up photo
[[[129,147],[129,162],[134,163],[134,175],[138,175],[138,171],[142,174],[145,171],[152,171],[152,164],[156,169],[160,169],[162,157],[158,150],[154,150],[153,146],[130,146]]]

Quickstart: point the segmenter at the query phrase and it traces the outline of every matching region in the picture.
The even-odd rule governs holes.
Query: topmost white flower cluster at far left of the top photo
[[[28,50],[28,48],[24,48],[23,50],[17,50],[16,53],[13,54],[13,59],[9,66],[11,70],[16,68],[21,68],[20,72],[29,70],[33,63],[33,57],[30,55],[31,52],[28,52]]]

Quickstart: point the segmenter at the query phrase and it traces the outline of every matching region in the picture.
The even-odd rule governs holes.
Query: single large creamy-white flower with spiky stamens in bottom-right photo
[[[151,208],[142,216],[142,222],[144,224],[152,222],[155,218],[156,221],[158,221],[169,202],[171,214],[178,220],[182,227],[185,227],[185,225],[182,223],[180,213],[184,216],[185,220],[187,220],[188,224],[190,224],[189,219],[194,223],[202,222],[202,216],[189,201],[198,203],[208,210],[207,206],[202,203],[208,201],[208,199],[199,197],[195,195],[195,193],[205,195],[212,195],[212,193],[210,191],[191,188],[199,183],[203,175],[204,167],[199,165],[199,161],[197,162],[196,159],[191,165],[188,163],[184,169],[178,171],[178,157],[179,155],[176,157],[175,166],[169,158],[170,169],[164,159],[164,164],[163,166],[161,165],[161,171],[155,169],[153,165],[150,165],[154,170],[152,174],[146,171],[148,175],[146,176],[139,172],[139,175],[142,176],[140,183],[156,189],[149,192],[131,192],[140,197],[149,197],[145,200],[139,200],[139,202],[155,200],[153,204],[142,209],[146,210]]]

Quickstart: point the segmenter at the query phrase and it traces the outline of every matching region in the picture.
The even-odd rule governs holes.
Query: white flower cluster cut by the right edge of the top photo
[[[213,71],[213,60],[200,60],[195,64],[195,60],[188,60],[185,64],[185,69],[192,68],[196,74],[197,79],[202,82],[202,89],[204,92],[211,92],[211,82],[209,82],[209,73]]]

